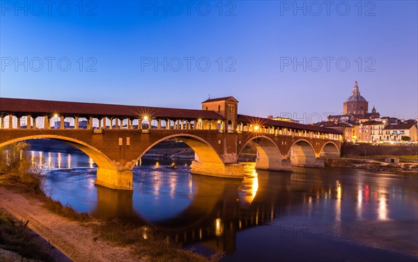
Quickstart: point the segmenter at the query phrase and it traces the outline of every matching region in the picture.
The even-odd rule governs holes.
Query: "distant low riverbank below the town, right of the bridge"
[[[325,158],[325,167],[346,167],[371,172],[418,174],[418,163],[385,163],[364,158]]]

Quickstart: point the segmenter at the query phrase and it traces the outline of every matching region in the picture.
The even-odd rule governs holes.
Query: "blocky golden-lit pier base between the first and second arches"
[[[132,184],[132,170],[119,171],[98,167],[97,179],[94,183],[113,189],[134,189]]]

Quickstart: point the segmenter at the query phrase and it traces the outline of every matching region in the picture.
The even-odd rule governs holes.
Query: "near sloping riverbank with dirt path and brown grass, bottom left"
[[[159,238],[157,231],[153,236],[150,234],[153,229],[148,228],[148,239],[144,239],[142,229],[134,225],[117,220],[84,219],[84,214],[75,217],[61,210],[71,211],[72,208],[51,208],[62,205],[45,200],[47,197],[24,193],[22,188],[10,186],[9,182],[0,179],[0,208],[17,220],[29,221],[27,227],[72,261],[208,261],[204,256],[181,249],[176,243],[167,243],[167,238]],[[80,218],[84,222],[74,221]],[[8,251],[6,254],[14,257]],[[222,254],[216,254],[210,261],[221,257]]]

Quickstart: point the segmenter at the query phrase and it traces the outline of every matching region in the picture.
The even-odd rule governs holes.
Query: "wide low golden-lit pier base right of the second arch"
[[[192,161],[192,174],[203,174],[210,177],[242,178],[244,177],[244,165],[219,164],[219,163],[201,163]]]

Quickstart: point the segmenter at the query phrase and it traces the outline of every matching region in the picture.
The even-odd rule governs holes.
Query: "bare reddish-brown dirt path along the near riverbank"
[[[141,261],[127,247],[95,240],[88,226],[48,211],[38,199],[28,199],[0,186],[0,206],[19,220],[29,220],[33,231],[73,261]]]

